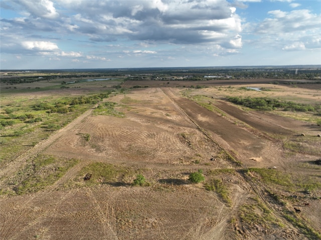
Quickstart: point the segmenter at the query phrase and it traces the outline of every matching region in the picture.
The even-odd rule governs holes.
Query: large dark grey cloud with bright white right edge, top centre
[[[63,3],[60,3],[61,5]],[[226,1],[67,1],[71,17],[91,41],[118,39],[175,44],[228,43],[241,32],[236,9]],[[217,38],[222,34],[223,37]]]

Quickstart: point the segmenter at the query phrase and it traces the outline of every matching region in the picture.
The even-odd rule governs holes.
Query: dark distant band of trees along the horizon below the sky
[[[13,73],[14,74],[14,73]],[[175,78],[178,81],[198,81],[204,80],[204,76],[218,76],[219,78],[228,79],[293,79],[293,80],[314,80],[321,82],[321,69],[320,68],[305,68],[305,69],[290,69],[290,68],[164,68],[164,69],[127,69],[127,70],[99,70],[99,71],[79,71],[79,72],[66,72],[66,71],[40,71],[37,76],[12,76],[8,74],[6,78],[1,78],[1,83],[7,85],[31,83],[41,80],[53,79],[77,79],[84,77],[101,78],[108,77],[124,77],[125,80],[169,80]],[[228,76],[228,77],[227,77]],[[183,79],[177,77],[184,77]],[[210,80],[210,79],[207,79]],[[289,83],[290,84],[290,83]],[[297,83],[295,83],[297,84]]]

